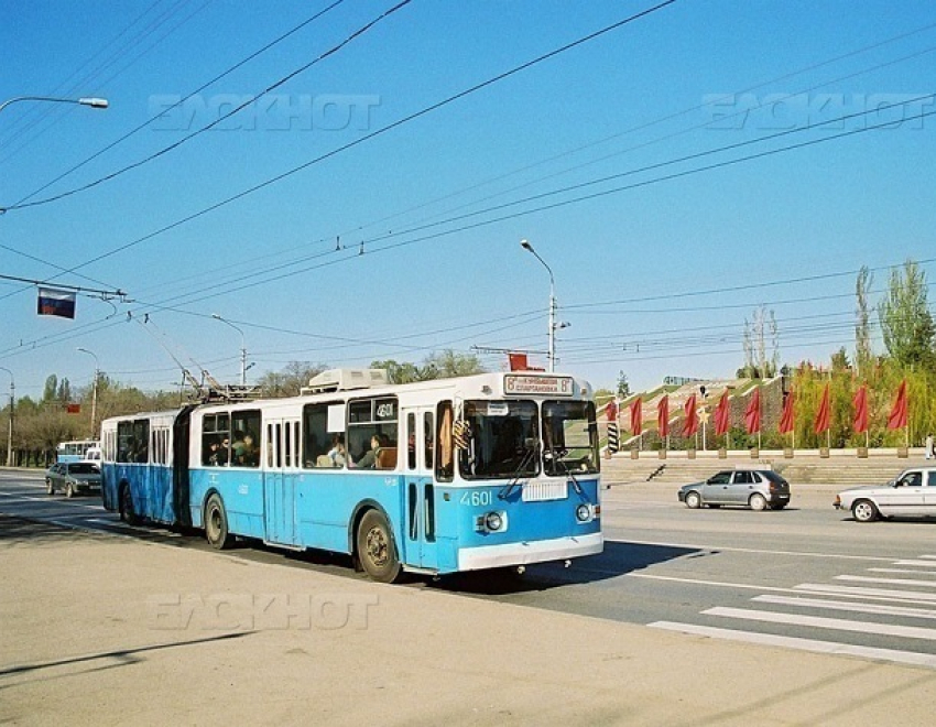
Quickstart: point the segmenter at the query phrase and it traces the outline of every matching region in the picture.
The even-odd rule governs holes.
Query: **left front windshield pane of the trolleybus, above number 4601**
[[[466,401],[467,446],[459,469],[466,479],[532,477],[540,423],[533,401]]]

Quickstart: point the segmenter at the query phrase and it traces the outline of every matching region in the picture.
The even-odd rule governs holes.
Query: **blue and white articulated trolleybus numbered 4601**
[[[512,372],[391,386],[336,369],[298,397],[101,425],[104,504],[233,538],[347,553],[377,580],[600,553],[589,386]]]

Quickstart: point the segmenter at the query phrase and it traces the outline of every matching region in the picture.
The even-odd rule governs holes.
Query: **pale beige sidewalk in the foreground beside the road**
[[[928,725],[936,696],[927,669],[2,516],[0,583],[4,724]]]

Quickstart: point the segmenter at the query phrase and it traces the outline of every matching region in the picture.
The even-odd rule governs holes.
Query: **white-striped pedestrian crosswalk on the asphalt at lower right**
[[[802,583],[784,594],[763,593],[743,608],[714,606],[699,611],[693,623],[650,626],[936,669],[936,555],[899,560],[831,580]]]

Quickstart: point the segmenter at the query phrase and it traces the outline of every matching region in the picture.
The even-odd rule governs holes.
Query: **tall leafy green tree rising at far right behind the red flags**
[[[926,302],[926,273],[907,260],[891,271],[888,293],[878,305],[884,346],[901,366],[928,365],[934,360],[933,314]]]

